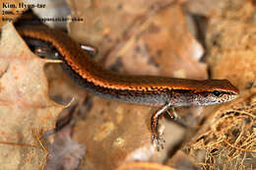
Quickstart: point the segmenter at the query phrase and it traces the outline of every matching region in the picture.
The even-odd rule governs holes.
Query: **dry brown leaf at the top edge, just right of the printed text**
[[[85,19],[84,23],[70,24],[72,37],[100,47],[99,56],[134,34],[145,20],[154,15],[160,8],[172,4],[173,0],[110,0],[81,1],[70,0],[72,17]]]

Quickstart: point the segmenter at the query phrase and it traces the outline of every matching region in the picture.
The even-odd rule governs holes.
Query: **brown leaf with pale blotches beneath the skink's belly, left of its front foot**
[[[134,159],[149,160],[156,154],[151,144],[150,107],[99,97],[90,100],[91,108],[83,112],[87,119],[78,121],[74,129],[74,140],[87,145],[85,166],[114,169]]]

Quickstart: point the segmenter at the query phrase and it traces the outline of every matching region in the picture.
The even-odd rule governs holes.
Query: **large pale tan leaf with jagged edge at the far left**
[[[38,141],[54,129],[63,106],[51,101],[43,66],[11,24],[0,45],[0,169],[38,169],[47,152]],[[9,144],[8,144],[9,143]]]

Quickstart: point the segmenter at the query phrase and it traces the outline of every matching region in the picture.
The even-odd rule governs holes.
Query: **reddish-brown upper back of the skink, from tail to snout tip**
[[[81,49],[80,45],[65,32],[60,30],[33,27],[18,28],[23,36],[40,39],[51,43],[64,57],[68,65],[83,79],[102,87],[122,90],[162,90],[188,89],[196,92],[226,90],[237,88],[227,80],[187,80],[158,76],[118,75],[98,66],[96,62]]]

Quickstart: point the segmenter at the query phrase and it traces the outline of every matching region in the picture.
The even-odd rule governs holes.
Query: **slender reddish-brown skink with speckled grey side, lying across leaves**
[[[236,98],[239,93],[227,80],[119,75],[97,65],[65,32],[46,27],[18,28],[18,31],[23,37],[53,45],[63,61],[64,71],[86,90],[111,100],[160,107],[151,122],[152,140],[158,147],[161,146],[159,117],[169,108],[219,104]]]

